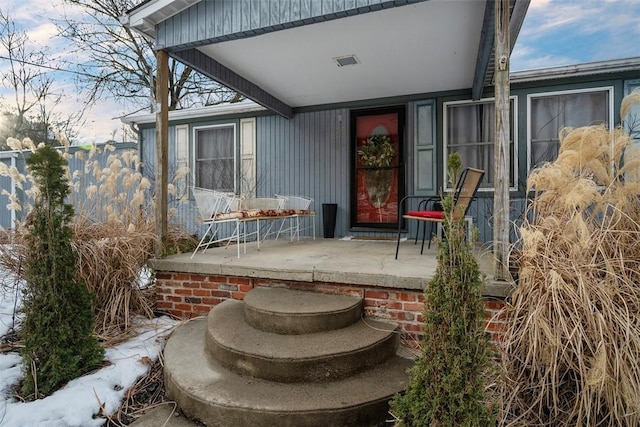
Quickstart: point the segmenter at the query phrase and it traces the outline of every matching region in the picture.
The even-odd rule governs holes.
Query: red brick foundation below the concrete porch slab
[[[157,272],[157,309],[178,318],[189,319],[206,315],[212,307],[226,299],[242,300],[247,292],[257,286],[364,298],[365,314],[397,322],[404,345],[415,347],[421,338],[424,303],[422,292],[379,286]],[[487,309],[486,330],[491,333],[494,341],[499,342],[506,326],[504,319],[498,316],[500,309],[504,307],[504,301],[493,297],[486,297],[484,301]]]

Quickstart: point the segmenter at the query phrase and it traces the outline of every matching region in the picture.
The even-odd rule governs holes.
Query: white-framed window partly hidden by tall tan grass
[[[558,157],[559,132],[613,122],[613,89],[529,95],[529,170]]]

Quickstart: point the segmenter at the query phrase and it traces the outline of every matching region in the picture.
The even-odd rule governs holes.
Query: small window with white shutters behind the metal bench
[[[195,184],[219,191],[236,191],[235,125],[194,129]]]

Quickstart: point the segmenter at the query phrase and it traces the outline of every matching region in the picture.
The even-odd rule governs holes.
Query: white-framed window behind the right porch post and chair
[[[494,188],[494,144],[495,144],[495,104],[491,100],[480,102],[445,103],[445,164],[451,153],[460,153],[465,167],[482,169],[485,172],[480,188]],[[516,109],[515,98],[511,98],[509,106],[509,186],[516,186],[516,148],[514,119]],[[446,167],[445,173],[446,173]],[[446,188],[452,185],[445,176]]]

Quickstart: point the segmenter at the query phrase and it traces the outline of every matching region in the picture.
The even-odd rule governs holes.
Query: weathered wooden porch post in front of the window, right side
[[[495,0],[495,280],[509,280],[509,40],[509,0]]]

